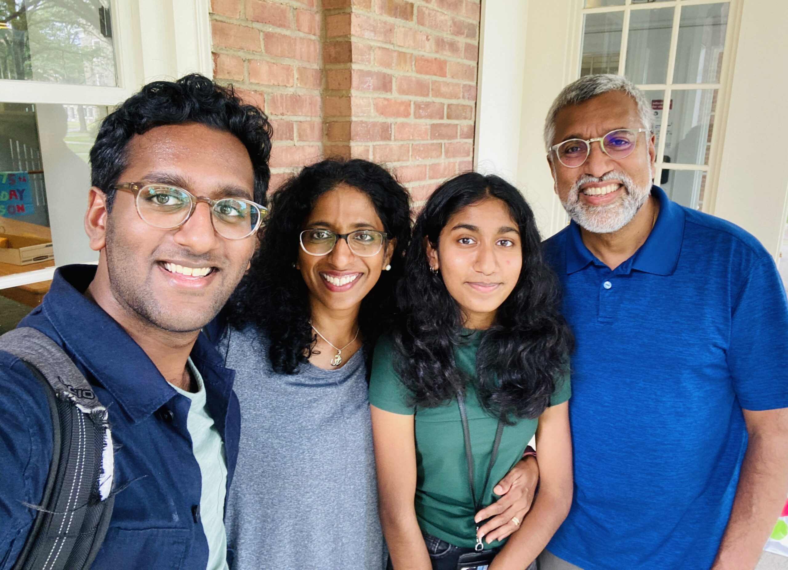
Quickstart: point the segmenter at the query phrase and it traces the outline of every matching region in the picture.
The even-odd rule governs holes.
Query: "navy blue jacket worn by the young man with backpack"
[[[83,292],[95,266],[65,266],[20,326],[46,333],[76,363],[110,414],[115,506],[94,570],[206,568],[199,512],[200,468],[187,419],[191,400],[170,386],[142,348]],[[208,411],[225,442],[227,486],[238,456],[235,373],[199,335],[191,360],[203,377]],[[13,567],[38,505],[52,456],[43,386],[16,357],[0,352],[0,570]]]

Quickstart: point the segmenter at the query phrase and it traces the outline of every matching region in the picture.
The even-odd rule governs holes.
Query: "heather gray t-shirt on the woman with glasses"
[[[362,351],[338,370],[290,375],[273,371],[251,327],[230,329],[219,350],[241,408],[225,519],[232,569],[385,568]]]

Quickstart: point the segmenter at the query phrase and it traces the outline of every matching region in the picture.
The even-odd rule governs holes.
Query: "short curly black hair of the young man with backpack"
[[[162,125],[200,123],[229,132],[243,143],[255,172],[255,202],[265,204],[271,171],[273,129],[257,107],[244,105],[232,87],[191,73],[177,81],[153,81],[126,99],[102,122],[91,148],[91,184],[100,188],[112,209],[112,188],[128,166],[128,141]]]

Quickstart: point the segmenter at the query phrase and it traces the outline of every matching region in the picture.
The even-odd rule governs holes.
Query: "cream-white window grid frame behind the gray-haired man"
[[[682,6],[697,6],[701,4],[719,4],[729,2],[728,22],[725,32],[725,44],[723,46],[723,63],[720,70],[719,83],[704,84],[674,84],[673,75],[676,62],[676,50],[678,47],[678,29],[681,21]],[[630,15],[633,10],[642,9],[661,9],[674,8],[673,28],[671,30],[671,46],[667,59],[667,82],[664,84],[638,84],[637,87],[642,91],[664,91],[664,101],[670,102],[673,91],[693,91],[696,89],[716,89],[717,103],[714,110],[714,129],[712,130],[712,140],[709,148],[708,165],[682,164],[679,162],[663,162],[662,158],[665,151],[667,125],[670,121],[670,104],[665,104],[662,110],[662,120],[660,121],[660,132],[657,134],[659,145],[656,148],[656,174],[655,181],[660,181],[663,170],[689,170],[706,174],[704,186],[703,203],[701,211],[707,214],[714,214],[716,205],[716,189],[719,181],[720,158],[723,151],[723,140],[725,140],[725,125],[727,123],[727,111],[730,104],[730,86],[733,80],[732,62],[734,61],[734,50],[738,43],[738,24],[741,20],[742,0],[671,0],[670,2],[648,2],[633,4],[632,0],[626,0],[624,6],[602,6],[600,8],[582,8],[582,16],[578,19],[579,29],[578,41],[578,60],[575,68],[574,79],[580,77],[580,61],[582,59],[582,26],[585,14],[623,12],[623,28],[621,32],[621,49],[619,50],[619,75],[626,72],[626,48],[630,33]]]

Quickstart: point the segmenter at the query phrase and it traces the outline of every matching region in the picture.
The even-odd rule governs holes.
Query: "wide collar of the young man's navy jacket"
[[[41,304],[42,312],[68,351],[137,423],[161,408],[177,392],[117,321],[84,296],[95,272],[95,266],[87,265],[63,266],[56,270],[50,291]],[[203,363],[217,364],[221,360],[202,334],[192,355]]]

